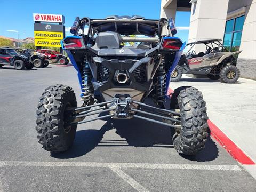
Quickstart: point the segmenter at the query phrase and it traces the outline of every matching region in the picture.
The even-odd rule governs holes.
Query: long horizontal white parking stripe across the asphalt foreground
[[[226,170],[241,171],[238,165],[153,164],[153,163],[95,163],[95,162],[29,162],[0,161],[0,166],[70,166],[70,167],[119,167],[142,169]]]

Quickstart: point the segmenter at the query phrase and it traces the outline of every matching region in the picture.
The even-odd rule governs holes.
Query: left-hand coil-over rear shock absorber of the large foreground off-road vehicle
[[[92,73],[89,66],[89,61],[87,59],[87,56],[84,56],[83,58],[83,76],[82,76],[83,84],[82,84],[82,94],[81,98],[82,101],[84,101],[84,105],[90,105],[90,102],[93,102],[93,87],[91,83],[92,79]]]

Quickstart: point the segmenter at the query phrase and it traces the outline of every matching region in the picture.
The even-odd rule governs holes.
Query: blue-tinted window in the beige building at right
[[[244,15],[226,22],[223,45],[231,52],[240,48],[242,30],[244,26]]]

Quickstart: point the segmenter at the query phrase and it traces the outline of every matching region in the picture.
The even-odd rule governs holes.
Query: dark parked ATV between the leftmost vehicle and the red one
[[[21,49],[16,48],[15,49],[19,54],[24,55],[29,58],[29,62],[34,65],[34,67],[47,67],[49,65],[49,61],[45,59],[44,56],[34,54],[33,50],[29,49]]]

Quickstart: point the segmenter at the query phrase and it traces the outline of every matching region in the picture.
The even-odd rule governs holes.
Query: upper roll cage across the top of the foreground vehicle
[[[87,40],[90,37],[98,35],[100,32],[113,31],[120,35],[145,35],[148,38],[123,37],[123,42],[159,42],[162,36],[172,36],[168,27],[168,20],[161,18],[159,20],[145,19],[140,16],[121,16],[117,15],[107,17],[106,19],[90,19],[84,17],[76,18],[70,32],[74,36],[84,34],[87,28]],[[87,26],[87,27],[86,27]],[[79,34],[79,31],[82,33]],[[85,34],[84,34],[85,35]]]

